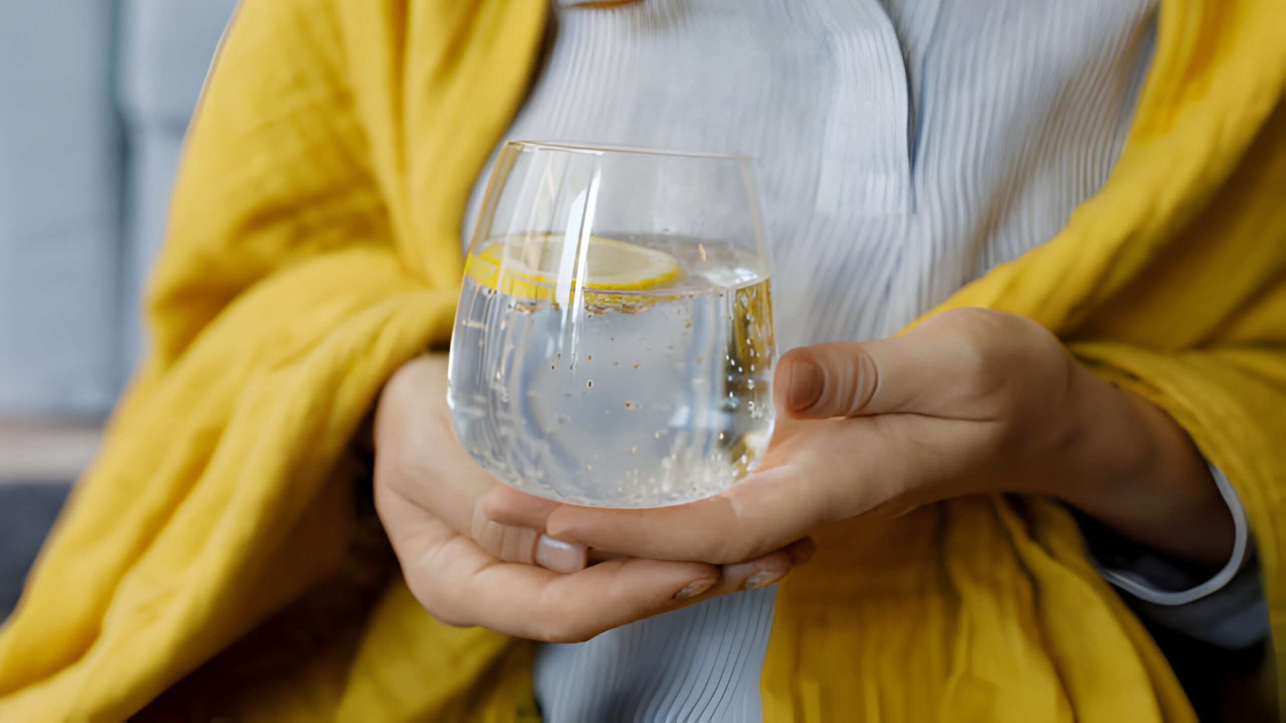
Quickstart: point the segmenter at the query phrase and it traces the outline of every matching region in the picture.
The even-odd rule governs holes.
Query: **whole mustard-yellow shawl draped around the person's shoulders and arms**
[[[132,715],[351,563],[338,462],[381,383],[450,332],[466,198],[547,1],[243,1],[188,139],[156,350],[0,633],[0,720]],[[1283,30],[1281,0],[1164,3],[1107,184],[944,306],[1031,316],[1168,409],[1250,512],[1277,639]],[[961,499],[819,543],[778,593],[768,720],[1192,719],[1052,503]],[[305,659],[206,702],[275,722],[534,715],[527,645],[444,627],[400,581],[331,620]]]

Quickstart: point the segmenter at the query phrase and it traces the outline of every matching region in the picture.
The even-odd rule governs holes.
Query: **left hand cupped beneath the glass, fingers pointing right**
[[[503,485],[455,439],[445,362],[421,356],[399,369],[381,395],[374,427],[376,508],[408,585],[444,623],[583,641],[774,583],[811,556],[811,540],[799,540],[736,565],[610,560],[586,567],[583,544],[486,520],[480,500]]]

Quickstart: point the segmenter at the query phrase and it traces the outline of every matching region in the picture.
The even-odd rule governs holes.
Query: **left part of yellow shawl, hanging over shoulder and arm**
[[[544,13],[242,3],[186,140],[156,351],[0,634],[0,720],[121,720],[340,563],[351,480],[331,471],[383,381],[450,333],[469,187]],[[444,654],[509,647],[418,618]],[[333,700],[283,700],[340,710],[346,682],[327,684]]]

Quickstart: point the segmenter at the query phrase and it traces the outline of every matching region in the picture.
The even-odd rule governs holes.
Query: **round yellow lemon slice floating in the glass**
[[[575,242],[575,239],[572,239]],[[482,286],[521,298],[552,300],[559,275],[576,268],[575,248],[562,234],[523,234],[498,239],[469,257],[464,273]],[[566,251],[566,252],[565,252]],[[621,292],[643,291],[679,277],[679,260],[656,248],[613,238],[589,237],[585,259],[586,304],[622,301]],[[568,291],[576,286],[572,278]]]

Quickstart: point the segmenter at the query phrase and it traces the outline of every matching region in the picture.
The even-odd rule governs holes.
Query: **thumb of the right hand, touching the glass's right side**
[[[801,419],[917,412],[923,387],[944,381],[921,346],[894,337],[792,349],[777,365],[777,409]]]

